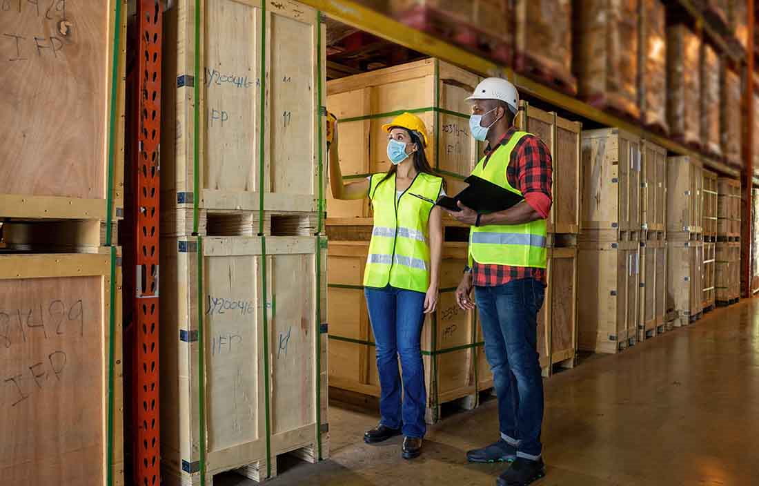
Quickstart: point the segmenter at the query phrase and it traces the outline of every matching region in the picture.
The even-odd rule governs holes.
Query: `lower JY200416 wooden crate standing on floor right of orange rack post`
[[[282,453],[316,462],[320,444],[326,458],[325,240],[161,243],[165,481],[238,468],[260,481]]]

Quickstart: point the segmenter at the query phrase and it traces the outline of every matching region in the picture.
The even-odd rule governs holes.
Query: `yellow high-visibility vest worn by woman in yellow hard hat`
[[[369,197],[374,210],[374,229],[369,244],[364,286],[382,289],[388,284],[405,290],[427,292],[430,286],[430,245],[427,223],[433,204],[409,193],[437,200],[442,178],[419,173],[400,197],[396,197],[395,174],[372,175]]]

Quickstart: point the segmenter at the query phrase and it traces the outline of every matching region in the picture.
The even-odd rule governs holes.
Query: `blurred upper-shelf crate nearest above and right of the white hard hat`
[[[577,94],[572,75],[572,2],[516,0],[513,17],[515,70]]]

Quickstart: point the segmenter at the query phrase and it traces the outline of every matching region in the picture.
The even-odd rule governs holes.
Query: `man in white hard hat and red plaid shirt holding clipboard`
[[[546,217],[551,209],[551,154],[540,138],[513,125],[519,95],[509,81],[489,77],[468,97],[470,130],[487,140],[477,175],[524,197],[496,213],[478,214],[459,203],[449,214],[471,226],[469,265],[456,290],[458,305],[480,313],[485,355],[498,396],[500,437],[467,453],[470,462],[511,462],[498,486],[542,478],[540,428],[543,380],[537,353],[537,313],[546,286]]]

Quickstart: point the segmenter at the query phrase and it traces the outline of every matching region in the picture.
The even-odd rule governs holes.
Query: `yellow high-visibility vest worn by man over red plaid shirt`
[[[517,131],[509,142],[491,154],[487,166],[485,159],[472,171],[472,175],[522,195],[509,184],[506,168],[512,150],[527,132]],[[546,220],[537,219],[521,225],[472,226],[469,232],[469,261],[478,264],[508,265],[509,267],[546,268]]]

